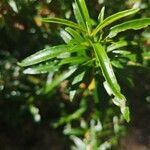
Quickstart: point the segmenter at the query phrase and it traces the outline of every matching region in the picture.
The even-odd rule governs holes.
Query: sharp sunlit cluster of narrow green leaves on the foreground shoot
[[[85,0],[75,0],[73,11],[76,22],[53,17],[42,18],[45,23],[65,26],[65,29],[60,31],[65,44],[47,47],[18,64],[28,67],[24,70],[26,74],[57,73],[57,76],[54,76],[51,83],[45,87],[45,93],[51,92],[62,81],[68,79],[71,100],[78,94],[78,89],[82,93],[89,89],[90,83],[95,80],[97,74],[99,77],[103,76],[106,91],[112,96],[113,103],[120,107],[123,117],[129,122],[129,108],[126,106],[126,98],[121,92],[112,65],[117,66],[121,57],[127,57],[130,60],[130,52],[120,50],[120,48],[133,43],[128,43],[126,40],[116,42],[114,38],[120,32],[147,27],[150,25],[150,18],[126,21],[111,27],[115,21],[135,14],[139,9],[121,11],[105,18],[105,8],[102,8],[95,21],[90,17]],[[108,34],[106,29],[109,31]],[[109,55],[117,58],[117,63],[112,62],[113,59],[110,59]],[[94,88],[95,85],[92,89]]]

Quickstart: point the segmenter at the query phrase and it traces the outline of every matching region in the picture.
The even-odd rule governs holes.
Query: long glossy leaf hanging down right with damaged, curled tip
[[[110,60],[101,44],[92,44],[97,61],[100,65],[104,78],[114,95],[113,102],[120,106],[124,118],[129,121],[129,109],[126,107],[126,98],[120,92],[120,86],[116,80]]]

